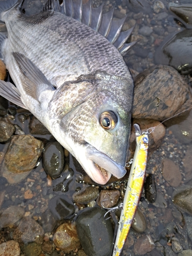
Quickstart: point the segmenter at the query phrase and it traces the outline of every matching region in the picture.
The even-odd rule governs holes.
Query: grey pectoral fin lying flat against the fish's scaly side
[[[40,102],[42,91],[55,90],[45,75],[30,59],[18,52],[13,52],[13,56],[22,73],[20,78],[22,80],[23,89],[29,96]]]

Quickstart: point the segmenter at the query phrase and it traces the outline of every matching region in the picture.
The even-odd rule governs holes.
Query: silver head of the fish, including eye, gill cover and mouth
[[[88,84],[93,90],[62,119],[61,129],[83,169],[96,183],[105,184],[112,174],[122,178],[126,173],[133,81],[100,75]]]

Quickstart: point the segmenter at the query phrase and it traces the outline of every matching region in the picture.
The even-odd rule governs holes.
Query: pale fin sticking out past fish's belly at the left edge
[[[0,80],[0,95],[10,100],[14,104],[20,106],[21,108],[27,109],[20,99],[19,91],[12,83]]]

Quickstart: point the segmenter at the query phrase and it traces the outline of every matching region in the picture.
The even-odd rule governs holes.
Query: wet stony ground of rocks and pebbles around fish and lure
[[[122,255],[192,255],[192,111],[161,124],[190,107],[190,67],[180,75],[173,68],[155,67],[166,63],[154,62],[164,38],[185,31],[168,11],[170,2],[190,4],[123,0],[107,1],[104,7],[108,11],[115,4],[116,18],[127,13],[124,29],[136,24],[132,40],[139,41],[125,56],[136,84],[133,123],[142,131],[156,127],[150,134],[143,193]],[[26,13],[42,7],[39,1],[30,5]],[[173,59],[178,65],[180,57]],[[130,142],[127,160],[135,150],[134,132]],[[128,175],[105,186],[93,183],[31,113],[2,97],[0,165],[0,255],[111,255],[120,210],[105,220],[101,204],[113,207],[123,200]]]

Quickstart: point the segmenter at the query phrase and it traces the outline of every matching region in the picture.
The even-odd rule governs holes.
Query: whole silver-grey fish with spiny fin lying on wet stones
[[[0,57],[14,82],[0,95],[29,110],[98,184],[122,178],[129,146],[134,83],[123,56],[134,28],[103,5],[49,0],[27,16],[24,0],[1,1]]]

